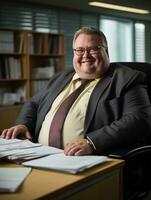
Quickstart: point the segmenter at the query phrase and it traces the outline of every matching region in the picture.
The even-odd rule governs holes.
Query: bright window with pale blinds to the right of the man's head
[[[111,62],[145,61],[145,25],[131,20],[101,17]]]

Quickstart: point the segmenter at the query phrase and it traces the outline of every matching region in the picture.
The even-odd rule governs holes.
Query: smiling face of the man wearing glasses
[[[96,34],[80,34],[75,40],[73,46],[78,51],[74,51],[73,65],[81,78],[99,78],[108,69],[109,57],[102,45],[100,37]],[[99,46],[101,47],[98,48]]]

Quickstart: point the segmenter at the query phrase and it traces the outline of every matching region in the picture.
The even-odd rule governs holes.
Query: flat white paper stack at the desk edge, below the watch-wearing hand
[[[76,174],[95,165],[110,161],[106,156],[66,156],[64,153],[23,162],[24,166]]]

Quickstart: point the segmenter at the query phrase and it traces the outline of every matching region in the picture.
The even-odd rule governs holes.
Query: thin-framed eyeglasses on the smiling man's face
[[[104,46],[95,46],[95,47],[88,47],[88,48],[77,47],[76,49],[73,49],[73,50],[75,51],[77,56],[83,56],[85,51],[87,51],[90,54],[97,54],[99,53],[102,47]]]

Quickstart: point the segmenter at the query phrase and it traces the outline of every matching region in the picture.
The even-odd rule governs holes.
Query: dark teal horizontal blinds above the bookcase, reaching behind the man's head
[[[72,68],[72,39],[83,25],[98,27],[96,14],[83,13],[52,6],[15,1],[0,1],[0,28],[40,32],[63,32],[66,35],[65,68]]]

